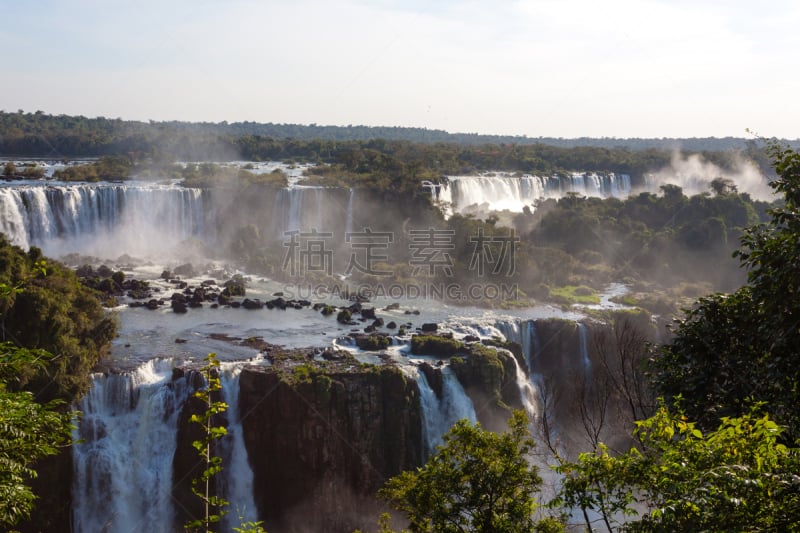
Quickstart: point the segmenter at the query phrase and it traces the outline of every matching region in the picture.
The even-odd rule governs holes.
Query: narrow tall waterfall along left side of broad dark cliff
[[[223,518],[228,530],[245,522],[258,520],[253,499],[253,469],[244,446],[241,413],[239,412],[239,375],[241,363],[223,363],[220,373],[222,397],[228,404],[228,435],[221,442],[224,468],[221,475],[222,497],[230,503],[230,512]]]

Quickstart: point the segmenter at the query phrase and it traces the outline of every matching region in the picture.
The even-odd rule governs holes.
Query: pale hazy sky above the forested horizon
[[[0,109],[800,137],[800,2],[0,0]]]

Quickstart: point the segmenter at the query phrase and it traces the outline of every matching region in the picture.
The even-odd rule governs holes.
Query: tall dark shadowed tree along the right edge
[[[762,402],[793,442],[800,438],[800,154],[775,142],[769,151],[778,174],[770,186],[782,205],[742,238],[736,255],[747,284],[701,298],[676,321],[651,377],[705,429]]]

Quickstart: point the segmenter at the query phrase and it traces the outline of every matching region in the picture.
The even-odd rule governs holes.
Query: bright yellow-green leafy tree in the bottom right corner
[[[751,411],[704,435],[662,405],[637,422],[640,448],[613,457],[601,446],[561,465],[553,504],[591,509],[609,531],[797,530],[800,450],[781,444],[781,432]]]

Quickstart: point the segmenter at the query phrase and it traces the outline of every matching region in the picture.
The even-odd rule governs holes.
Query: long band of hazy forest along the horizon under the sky
[[[800,141],[790,142],[800,147]],[[770,174],[755,140],[743,138],[530,138],[451,134],[406,127],[319,126],[256,122],[141,122],[119,118],[0,111],[0,155],[70,159],[126,155],[166,161],[295,160],[342,163],[379,153],[433,173],[479,170],[590,170],[641,176],[669,165],[676,149],[722,168],[739,155]]]

